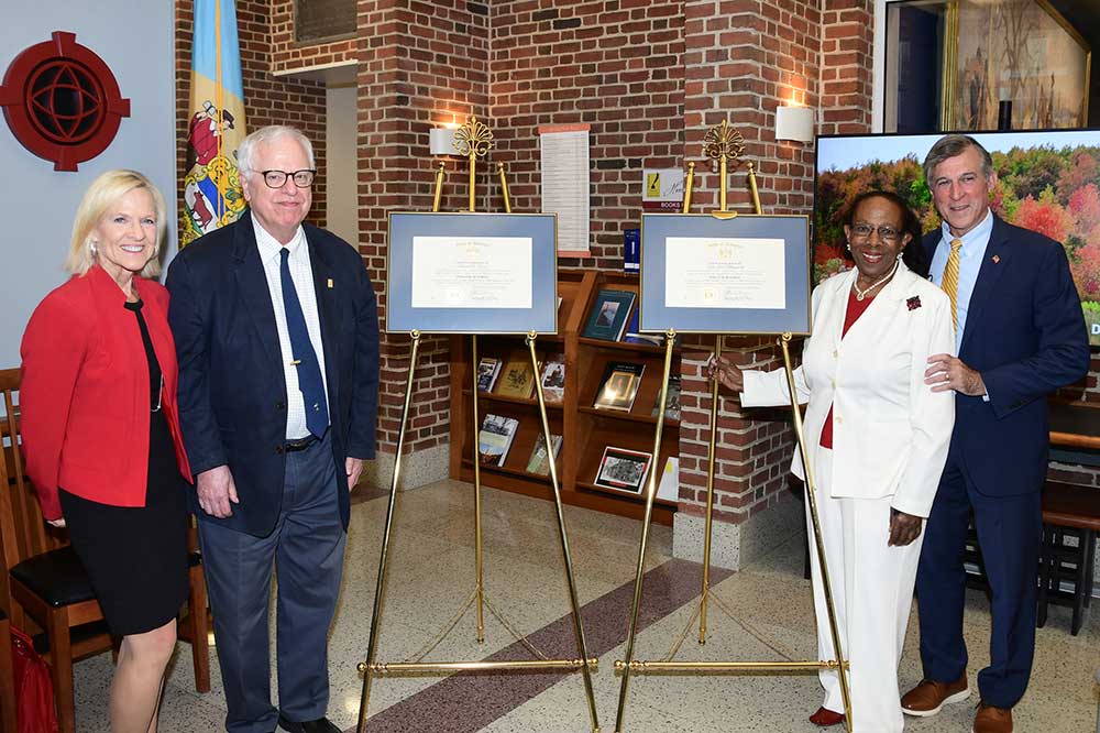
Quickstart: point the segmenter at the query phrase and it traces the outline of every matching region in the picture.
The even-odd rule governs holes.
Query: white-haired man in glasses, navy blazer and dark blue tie
[[[378,320],[359,252],[302,220],[312,146],[263,128],[238,150],[250,212],[179,252],[168,321],[179,420],[229,713],[226,730],[338,732],[328,630],[349,492],[374,458]],[[268,605],[278,567],[278,702]]]

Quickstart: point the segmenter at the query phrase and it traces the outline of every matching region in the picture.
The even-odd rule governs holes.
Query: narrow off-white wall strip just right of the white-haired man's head
[[[355,247],[359,244],[359,150],[355,85],[326,90],[324,226]]]

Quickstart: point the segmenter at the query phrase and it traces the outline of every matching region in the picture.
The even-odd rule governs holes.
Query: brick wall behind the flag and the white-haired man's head
[[[183,211],[183,179],[187,173],[187,128],[190,121],[191,41],[194,0],[176,3],[176,172],[177,196]],[[272,76],[272,9],[266,0],[238,0],[237,24],[241,43],[241,75],[248,130],[265,124],[293,124],[314,143],[319,172],[314,184],[314,207],[309,220],[324,226],[324,87],[315,81],[279,79]]]

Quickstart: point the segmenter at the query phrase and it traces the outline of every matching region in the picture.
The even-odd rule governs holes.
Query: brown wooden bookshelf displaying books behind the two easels
[[[651,411],[657,402],[663,370],[664,349],[657,346],[605,341],[581,336],[601,289],[629,291],[638,295],[637,276],[595,271],[562,271],[558,294],[562,298],[558,313],[558,335],[539,336],[536,350],[540,362],[549,354],[564,353],[565,387],[561,403],[547,403],[550,430],[562,436],[558,456],[558,478],[562,501],[566,504],[641,518],[645,512],[644,490],[638,495],[612,491],[595,484],[604,448],[613,446],[645,452],[652,451],[657,418]],[[637,297],[634,308],[637,308]],[[480,336],[479,358],[496,358],[506,364],[509,355],[527,354],[521,336]],[[527,357],[529,359],[529,355]],[[641,383],[630,412],[593,407],[602,386],[608,362],[624,361],[645,364]],[[472,359],[471,338],[451,337],[451,456],[450,474],[462,481],[473,481],[473,447],[477,430],[473,426],[472,381],[476,363]],[[502,365],[502,371],[504,366]],[[680,372],[680,350],[673,352],[672,373]],[[536,375],[538,378],[538,375]],[[497,380],[499,385],[501,379]],[[495,389],[495,387],[494,387]],[[528,496],[551,500],[550,477],[528,473],[527,461],[541,433],[538,404],[529,398],[481,392],[477,415],[487,413],[519,420],[504,466],[482,466],[482,484]],[[666,418],[659,456],[650,471],[663,471],[670,456],[680,452],[679,420]],[[658,477],[660,479],[660,475]],[[653,519],[672,524],[676,505],[657,500]]]

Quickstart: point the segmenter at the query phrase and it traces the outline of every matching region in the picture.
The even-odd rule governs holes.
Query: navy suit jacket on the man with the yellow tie
[[[924,237],[927,262],[941,240],[939,229]],[[988,496],[1040,491],[1046,397],[1089,369],[1088,331],[1062,244],[993,217],[958,355],[981,373],[989,402],[956,394],[948,464]]]

